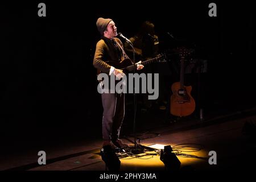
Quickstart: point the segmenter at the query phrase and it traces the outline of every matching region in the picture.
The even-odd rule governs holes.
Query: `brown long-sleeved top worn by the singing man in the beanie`
[[[114,40],[123,48],[123,44],[120,39],[114,38]],[[111,65],[107,64],[106,61],[117,61],[120,63],[124,57],[122,49],[118,45],[114,46],[112,40],[102,38],[96,45],[93,66],[101,72],[109,74]]]

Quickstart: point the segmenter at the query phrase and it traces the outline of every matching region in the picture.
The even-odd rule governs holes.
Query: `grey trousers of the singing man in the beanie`
[[[125,94],[102,93],[101,94],[103,117],[102,138],[104,140],[116,140],[125,117]]]

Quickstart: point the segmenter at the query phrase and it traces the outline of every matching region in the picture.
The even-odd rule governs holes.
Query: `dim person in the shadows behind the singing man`
[[[159,54],[159,40],[158,36],[155,34],[155,25],[150,21],[145,21],[142,23],[139,31],[136,35],[129,39],[131,43],[133,43],[135,49],[135,60],[148,60],[156,57]],[[125,50],[129,57],[133,57],[133,48],[129,44],[125,44]],[[159,73],[159,98],[156,101],[148,100],[147,94],[142,94],[141,99],[142,107],[145,110],[149,110],[154,105],[158,107],[158,109],[166,109],[164,105],[166,102],[166,88],[164,85],[164,78],[161,73],[161,68],[156,69],[153,63],[147,65],[143,72],[145,73]]]

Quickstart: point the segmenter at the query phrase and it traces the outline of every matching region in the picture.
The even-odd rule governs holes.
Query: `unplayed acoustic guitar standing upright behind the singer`
[[[184,59],[188,55],[187,49],[181,50],[180,82],[172,84],[171,114],[179,117],[190,115],[195,111],[195,100],[191,96],[192,86],[184,86]]]

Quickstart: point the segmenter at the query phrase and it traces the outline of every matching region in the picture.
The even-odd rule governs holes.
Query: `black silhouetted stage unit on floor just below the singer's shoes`
[[[121,162],[110,145],[101,148],[101,159],[105,162],[109,171],[118,171],[120,169]]]

